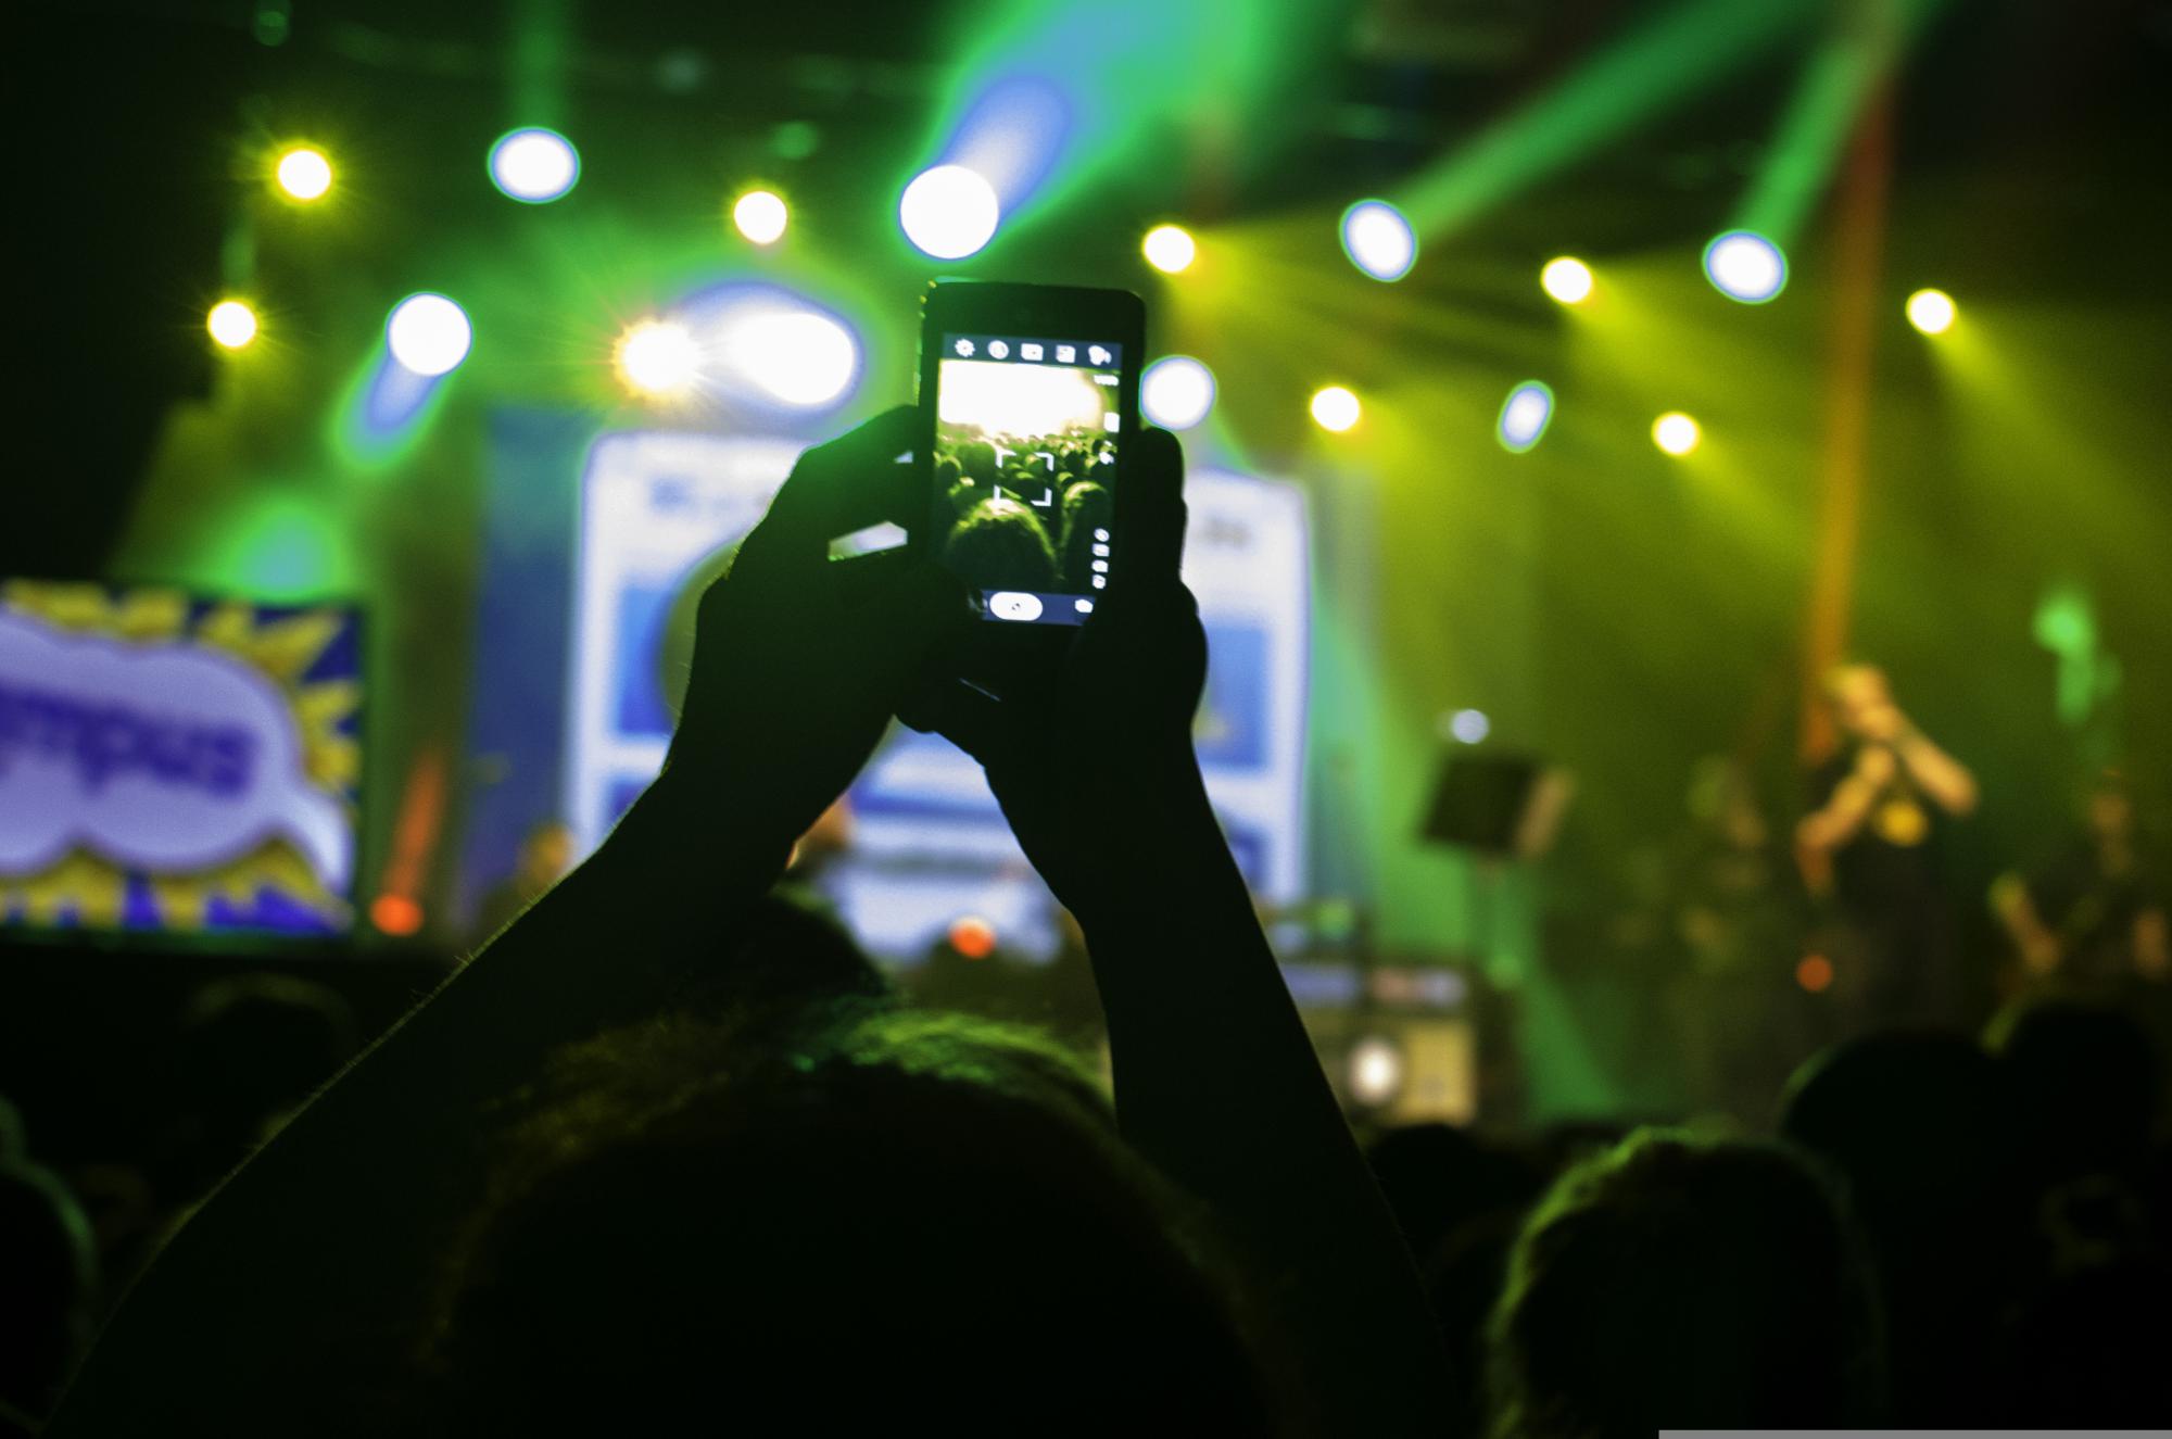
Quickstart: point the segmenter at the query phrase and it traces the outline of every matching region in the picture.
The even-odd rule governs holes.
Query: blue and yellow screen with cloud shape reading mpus
[[[339,606],[0,585],[0,924],[343,933],[356,628]]]

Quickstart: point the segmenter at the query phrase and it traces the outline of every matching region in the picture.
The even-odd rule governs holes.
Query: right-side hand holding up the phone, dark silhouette
[[[1025,856],[1082,919],[1121,898],[1156,841],[1212,828],[1192,754],[1208,646],[1179,578],[1175,435],[1132,441],[1116,511],[1110,587],[1047,678],[1001,700],[949,680],[899,715],[982,763]]]

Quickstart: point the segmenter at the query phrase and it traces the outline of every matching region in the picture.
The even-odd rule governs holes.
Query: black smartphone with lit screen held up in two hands
[[[1121,289],[927,287],[925,546],[990,626],[1079,626],[1108,591],[1145,328],[1145,304]]]

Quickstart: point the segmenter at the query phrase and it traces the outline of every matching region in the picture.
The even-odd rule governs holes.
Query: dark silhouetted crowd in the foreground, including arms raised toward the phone
[[[1861,1035],[1775,1096],[1770,1135],[1360,1150],[1190,752],[1175,441],[1134,441],[1132,567],[1060,672],[993,696],[943,678],[973,643],[956,580],[828,559],[908,426],[804,456],[704,598],[662,778],[358,1061],[315,987],[200,998],[154,1219],[100,1246],[0,1109],[15,1428],[2172,1419],[2157,1054],[2105,1006]],[[1010,489],[975,443],[956,485]],[[1056,474],[1066,515],[1099,489]],[[893,715],[982,763],[1077,917],[1112,1093],[1038,1028],[904,1002],[778,887]],[[1077,763],[1040,763],[1075,733]]]

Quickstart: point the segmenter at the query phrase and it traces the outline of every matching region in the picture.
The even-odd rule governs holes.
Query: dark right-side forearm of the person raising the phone
[[[1334,1432],[1438,1430],[1444,1363],[1416,1267],[1203,793],[1151,830],[1127,900],[1086,919],[1119,1124],[1264,1267]]]

